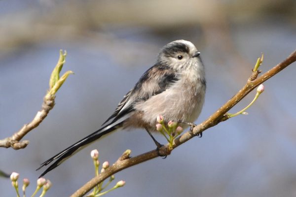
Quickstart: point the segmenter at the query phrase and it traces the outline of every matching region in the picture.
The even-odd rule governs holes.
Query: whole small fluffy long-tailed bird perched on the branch
[[[166,123],[190,125],[201,112],[205,91],[205,70],[196,47],[186,40],[166,44],[154,66],[123,97],[102,127],[42,163],[38,169],[55,161],[40,177],[89,143],[117,129],[143,128],[160,148],[161,144],[150,133],[156,131],[156,117],[162,115]]]

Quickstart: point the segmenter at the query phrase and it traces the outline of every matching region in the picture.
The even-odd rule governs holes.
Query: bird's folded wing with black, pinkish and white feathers
[[[135,103],[147,100],[151,96],[162,93],[178,80],[178,74],[169,66],[155,65],[150,67],[141,76],[136,85],[123,97],[114,113],[104,122],[104,124],[112,118],[113,120],[111,123],[116,122],[121,117],[132,112]]]

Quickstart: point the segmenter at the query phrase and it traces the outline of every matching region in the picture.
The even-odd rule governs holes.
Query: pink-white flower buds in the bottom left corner
[[[19,178],[19,173],[16,172],[12,172],[10,175],[10,180],[11,180],[11,184],[12,186],[15,188],[17,197],[20,197],[19,195],[19,190],[18,190],[18,180]],[[30,185],[30,181],[27,178],[23,179],[23,187],[22,187],[22,191],[24,194],[24,197],[26,196],[26,188]],[[44,197],[45,193],[47,192],[47,190],[49,190],[49,188],[51,187],[51,182],[49,180],[46,180],[44,178],[38,178],[37,180],[37,188],[35,190],[35,192],[33,193],[32,197],[35,197],[35,195],[37,194],[37,192],[43,187],[42,193],[40,195],[40,197]]]

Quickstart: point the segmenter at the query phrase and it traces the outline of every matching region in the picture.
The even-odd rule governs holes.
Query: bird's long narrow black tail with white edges
[[[81,150],[83,147],[85,147],[86,145],[88,145],[89,143],[99,139],[100,137],[102,137],[103,135],[110,133],[112,131],[115,131],[116,129],[120,128],[123,125],[123,122],[117,123],[117,124],[109,124],[106,125],[105,127],[99,129],[98,131],[95,131],[93,133],[91,133],[90,135],[84,137],[83,139],[77,141],[76,143],[74,143],[73,145],[69,146],[68,148],[66,148],[65,150],[61,151],[60,153],[56,154],[55,156],[53,156],[52,158],[50,158],[49,160],[43,162],[42,164],[40,164],[40,167],[37,168],[40,169],[41,167],[43,167],[44,165],[50,164],[51,162],[53,162],[54,160],[55,163],[51,164],[40,176],[44,176],[47,172],[53,170],[54,168],[56,168],[57,166],[59,166],[60,164],[62,164],[65,160],[69,159],[72,155],[74,155],[76,152],[78,152],[79,150]]]

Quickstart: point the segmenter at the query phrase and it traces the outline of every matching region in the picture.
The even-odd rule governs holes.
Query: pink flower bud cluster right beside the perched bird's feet
[[[174,139],[183,132],[183,128],[178,126],[177,122],[169,121],[167,124],[162,115],[156,117],[156,130],[159,131],[173,145]]]

